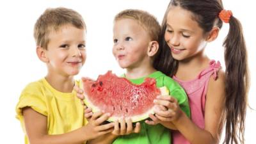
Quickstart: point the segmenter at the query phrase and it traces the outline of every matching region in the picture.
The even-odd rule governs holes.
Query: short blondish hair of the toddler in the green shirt
[[[149,34],[151,40],[159,41],[161,26],[156,17],[143,10],[128,9],[118,13],[115,21],[120,19],[136,20]]]

